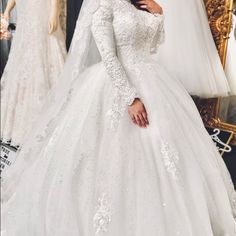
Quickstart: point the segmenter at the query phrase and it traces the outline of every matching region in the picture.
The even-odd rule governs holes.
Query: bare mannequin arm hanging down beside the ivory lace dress
[[[59,0],[51,0],[51,9],[49,16],[49,34],[55,32],[59,24],[60,2]]]

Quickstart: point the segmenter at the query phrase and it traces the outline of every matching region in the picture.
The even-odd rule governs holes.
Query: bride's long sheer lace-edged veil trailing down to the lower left
[[[75,80],[79,84],[80,74],[92,64],[101,61],[91,32],[92,17],[99,5],[100,0],[83,1],[69,54],[59,79],[60,83],[48,95],[42,113],[32,126],[34,128],[26,134],[15,163],[2,173],[3,201],[12,195],[19,176],[49,142],[50,134],[55,131],[57,119],[70,99]]]

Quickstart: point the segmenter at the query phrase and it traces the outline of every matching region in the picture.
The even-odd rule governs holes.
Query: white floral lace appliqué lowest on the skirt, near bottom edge
[[[103,194],[98,199],[98,206],[93,217],[93,226],[96,234],[107,232],[109,223],[111,222],[111,209],[108,204],[107,195]]]

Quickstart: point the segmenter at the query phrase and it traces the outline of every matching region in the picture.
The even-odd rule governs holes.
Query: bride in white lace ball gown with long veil
[[[64,83],[3,175],[3,236],[235,235],[221,156],[150,56],[163,22],[152,0],[84,1]]]

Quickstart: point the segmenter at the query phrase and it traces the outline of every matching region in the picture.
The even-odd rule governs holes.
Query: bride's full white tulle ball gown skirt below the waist
[[[127,112],[111,127],[111,79],[103,63],[87,69],[13,184],[2,236],[235,235],[228,172],[191,98],[156,63],[125,69],[148,128]]]

